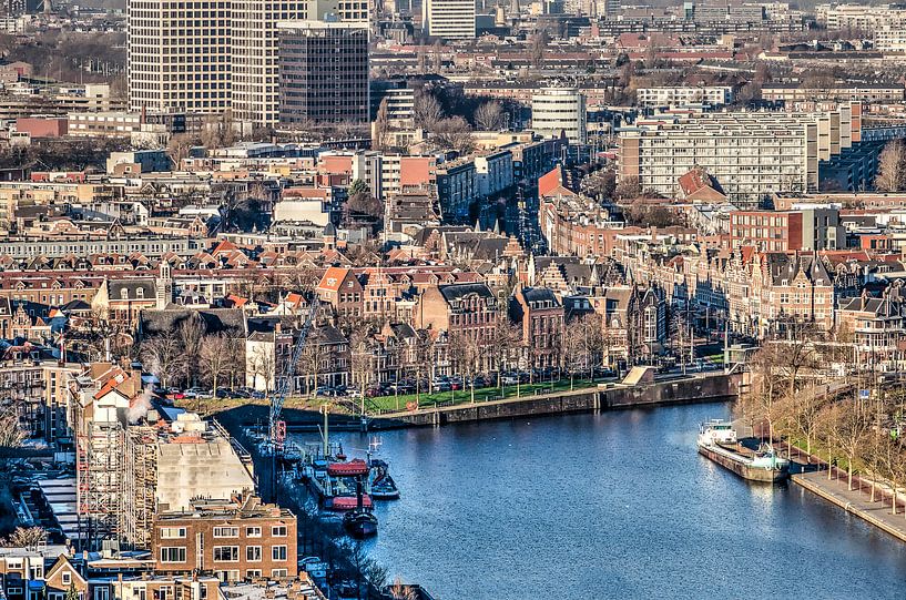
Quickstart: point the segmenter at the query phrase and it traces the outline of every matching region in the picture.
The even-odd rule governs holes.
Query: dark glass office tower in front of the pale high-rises
[[[368,122],[368,28],[279,23],[279,123]]]

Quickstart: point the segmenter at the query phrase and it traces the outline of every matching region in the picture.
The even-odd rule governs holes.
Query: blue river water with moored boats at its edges
[[[729,405],[378,435],[401,498],[373,557],[438,600],[902,597],[906,545],[695,451]],[[350,456],[370,436],[338,434]]]

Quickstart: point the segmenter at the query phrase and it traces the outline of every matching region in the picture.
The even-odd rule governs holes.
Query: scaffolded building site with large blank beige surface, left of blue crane
[[[58,520],[81,549],[147,549],[157,513],[255,490],[251,456],[216,424],[155,404],[141,373],[95,364],[69,390],[75,477],[57,505],[75,522]]]

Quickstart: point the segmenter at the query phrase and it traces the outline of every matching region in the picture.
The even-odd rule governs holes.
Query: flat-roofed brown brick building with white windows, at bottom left
[[[296,516],[255,496],[198,500],[192,511],[155,518],[153,555],[161,573],[211,573],[223,581],[296,578]]]

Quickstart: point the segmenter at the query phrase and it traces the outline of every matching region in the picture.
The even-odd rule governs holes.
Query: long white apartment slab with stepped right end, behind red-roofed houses
[[[777,191],[814,192],[818,163],[861,135],[858,105],[821,113],[732,112],[655,115],[620,132],[620,179],[676,197],[694,167],[714,176],[731,202]]]

